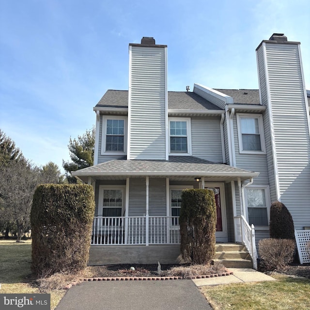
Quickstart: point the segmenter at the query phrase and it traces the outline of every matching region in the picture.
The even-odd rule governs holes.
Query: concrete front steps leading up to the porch
[[[215,262],[227,268],[252,268],[252,260],[245,246],[234,243],[217,243]]]

